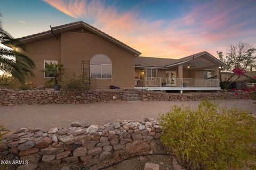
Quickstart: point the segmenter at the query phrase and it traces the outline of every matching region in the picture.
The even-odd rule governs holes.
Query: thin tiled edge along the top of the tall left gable
[[[141,54],[138,50],[135,50],[134,48],[132,48],[132,47],[130,47],[130,46],[128,46],[128,45],[122,43],[121,41],[117,40],[116,38],[109,36],[107,33],[102,32],[101,30],[99,30],[99,29],[93,27],[92,25],[90,25],[90,24],[88,24],[88,23],[86,23],[86,22],[83,22],[83,21],[71,22],[71,23],[59,25],[59,26],[57,26],[57,27],[52,27],[52,30],[54,31],[54,30],[56,30],[56,29],[61,29],[61,28],[65,28],[65,27],[67,27],[67,26],[76,25],[76,24],[82,24],[82,25],[84,24],[84,25],[87,26],[86,28],[89,28],[89,29],[91,28],[92,30],[95,30],[96,33],[102,34],[103,36],[108,37],[109,39],[115,41],[115,42],[118,43],[118,44],[123,45],[124,47],[126,47],[126,48],[132,50],[133,52],[137,53],[138,55]],[[34,38],[34,37],[41,36],[41,35],[45,35],[45,34],[48,34],[48,33],[51,33],[51,30],[44,31],[44,32],[39,32],[39,33],[35,33],[35,34],[33,34],[33,35],[29,35],[29,36],[25,36],[25,37],[21,37],[21,38],[18,38],[18,40],[25,40],[25,39],[28,39],[28,38]]]

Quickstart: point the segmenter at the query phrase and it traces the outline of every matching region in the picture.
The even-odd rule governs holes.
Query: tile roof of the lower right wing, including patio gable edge
[[[193,55],[190,55],[190,56],[187,56],[187,57],[182,57],[182,58],[179,58],[179,59],[155,58],[155,57],[137,57],[137,58],[135,58],[135,66],[167,68],[167,67],[171,67],[171,66],[174,66],[174,65],[186,63],[186,62],[188,62],[190,60],[194,60],[195,58],[197,58],[199,56],[202,56],[204,54],[209,55],[214,60],[219,62],[221,65],[225,65],[220,60],[218,60],[218,58],[215,58],[210,53],[208,53],[208,52],[201,52],[201,53],[193,54]]]

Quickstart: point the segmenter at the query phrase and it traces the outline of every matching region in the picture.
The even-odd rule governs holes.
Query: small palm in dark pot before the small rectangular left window
[[[47,84],[54,83],[53,87],[55,90],[60,90],[59,80],[61,78],[61,72],[63,70],[62,67],[63,67],[63,64],[49,63],[45,65],[45,71],[47,71],[53,76],[53,79],[50,79],[45,83]]]

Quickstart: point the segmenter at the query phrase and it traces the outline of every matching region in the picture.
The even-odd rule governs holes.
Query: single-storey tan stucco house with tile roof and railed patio
[[[178,60],[139,57],[138,50],[82,21],[19,40],[36,64],[35,77],[26,80],[34,86],[53,77],[51,72],[43,72],[47,64],[61,63],[65,74],[90,77],[92,88],[220,90],[218,68],[223,63],[207,52]]]

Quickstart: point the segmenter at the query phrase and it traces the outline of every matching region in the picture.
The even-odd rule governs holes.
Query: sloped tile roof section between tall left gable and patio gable
[[[135,66],[164,68],[167,64],[173,61],[175,61],[175,59],[172,58],[137,57],[135,58]]]

